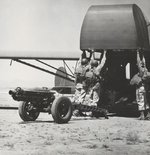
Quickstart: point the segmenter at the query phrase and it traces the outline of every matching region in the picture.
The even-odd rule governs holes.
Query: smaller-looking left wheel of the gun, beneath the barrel
[[[36,111],[32,102],[23,101],[19,105],[19,115],[23,121],[35,121],[40,112]]]

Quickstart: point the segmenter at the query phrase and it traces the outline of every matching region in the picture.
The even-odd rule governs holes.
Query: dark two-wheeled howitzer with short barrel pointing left
[[[41,88],[25,90],[17,87],[15,90],[10,90],[9,94],[16,101],[21,101],[19,104],[19,115],[23,121],[35,121],[40,112],[52,114],[56,123],[67,123],[75,109],[84,112],[92,111],[98,115],[102,114],[107,117],[105,109],[98,107],[90,107],[88,105],[79,105],[71,101],[71,95],[60,94],[53,89]]]

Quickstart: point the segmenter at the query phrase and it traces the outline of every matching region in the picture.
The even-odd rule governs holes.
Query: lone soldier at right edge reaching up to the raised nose
[[[142,60],[140,58],[140,53],[137,51],[137,66],[138,73],[134,75],[131,79],[130,84],[136,85],[136,101],[138,104],[138,109],[140,112],[140,120],[150,119],[150,107],[148,104],[148,70],[145,65],[145,58],[143,56]],[[145,117],[145,112],[147,112],[147,116]]]

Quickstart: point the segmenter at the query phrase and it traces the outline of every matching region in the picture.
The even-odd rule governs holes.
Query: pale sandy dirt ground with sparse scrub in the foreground
[[[0,155],[150,155],[150,121],[112,116],[72,117],[56,124],[41,113],[25,123],[17,110],[0,110]]]

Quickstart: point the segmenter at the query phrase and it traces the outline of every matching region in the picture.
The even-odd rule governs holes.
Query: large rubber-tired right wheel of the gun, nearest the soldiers
[[[68,123],[72,116],[72,104],[69,98],[61,96],[54,100],[51,113],[56,123]]]

